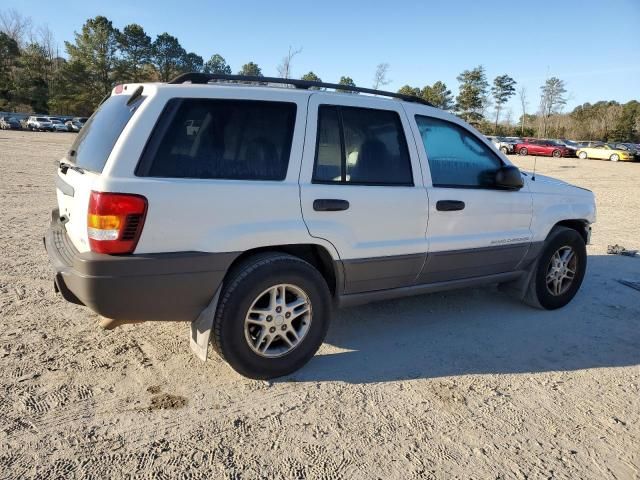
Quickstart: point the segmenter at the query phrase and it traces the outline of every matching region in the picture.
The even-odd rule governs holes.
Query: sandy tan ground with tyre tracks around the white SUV
[[[598,200],[566,308],[488,288],[343,310],[268,383],[197,360],[186,323],[107,332],[54,294],[72,139],[0,132],[0,478],[639,478],[640,292],[616,279],[640,258],[606,246],[640,248],[640,164],[538,159]]]

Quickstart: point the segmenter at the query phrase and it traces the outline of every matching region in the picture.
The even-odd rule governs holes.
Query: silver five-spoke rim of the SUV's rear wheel
[[[309,296],[290,284],[274,285],[258,295],[244,320],[244,336],[254,353],[281,357],[304,339],[311,325]]]

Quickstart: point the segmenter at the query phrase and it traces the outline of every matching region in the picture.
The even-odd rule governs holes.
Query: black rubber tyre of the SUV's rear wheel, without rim
[[[258,265],[258,266],[256,266]],[[249,272],[246,274],[246,272]],[[289,283],[309,296],[311,327],[290,353],[265,358],[254,353],[244,336],[244,318],[256,297],[271,286]],[[331,297],[324,278],[309,263],[288,255],[262,257],[229,279],[214,320],[214,348],[241,375],[269,379],[288,375],[306,364],[322,345],[329,327]]]

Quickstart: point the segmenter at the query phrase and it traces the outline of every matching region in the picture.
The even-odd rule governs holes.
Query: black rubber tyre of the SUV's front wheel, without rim
[[[557,229],[551,233],[545,243],[546,245],[540,256],[536,270],[535,290],[540,306],[546,310],[555,310],[568,304],[580,289],[587,267],[587,249],[584,239],[580,234],[570,228]],[[545,277],[551,257],[563,246],[573,248],[575,254],[578,256],[578,268],[569,290],[562,295],[554,296],[547,290]]]

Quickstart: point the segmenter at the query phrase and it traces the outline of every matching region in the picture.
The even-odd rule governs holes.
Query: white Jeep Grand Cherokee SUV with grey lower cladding
[[[247,78],[116,87],[60,161],[55,286],[105,327],[187,320],[201,358],[211,333],[236,371],[271,378],[314,355],[334,306],[491,283],[545,309],[576,294],[590,191],[521,174],[419,99],[221,80]]]

